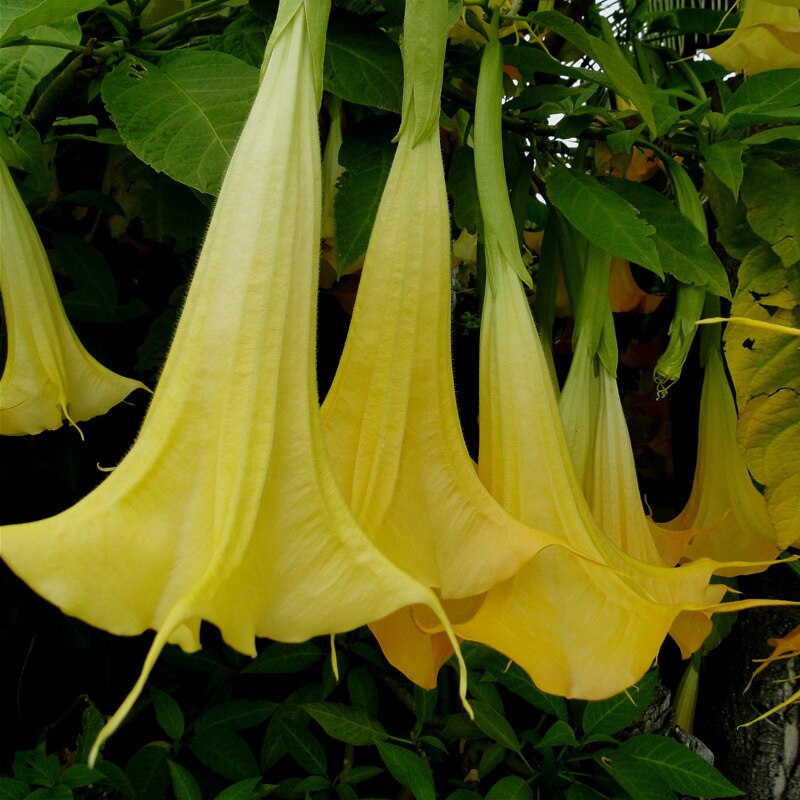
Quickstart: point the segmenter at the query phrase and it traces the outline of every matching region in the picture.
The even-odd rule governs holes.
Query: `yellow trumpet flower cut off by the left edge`
[[[0,379],[0,433],[40,433],[105,414],[139,381],[96,361],[80,343],[50,263],[5,162],[0,159],[0,293],[8,355]]]

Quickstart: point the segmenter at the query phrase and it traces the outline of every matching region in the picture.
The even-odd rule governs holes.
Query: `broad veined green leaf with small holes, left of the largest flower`
[[[258,86],[258,70],[218,52],[128,57],[102,86],[125,144],[157,172],[217,194]]]

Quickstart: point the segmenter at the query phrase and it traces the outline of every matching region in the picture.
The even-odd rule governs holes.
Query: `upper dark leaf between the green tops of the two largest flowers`
[[[348,18],[332,20],[325,45],[325,89],[351,103],[400,111],[403,61],[383,31]]]

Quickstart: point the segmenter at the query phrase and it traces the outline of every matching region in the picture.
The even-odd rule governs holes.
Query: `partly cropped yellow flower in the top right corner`
[[[731,37],[705,52],[726,69],[745,75],[800,67],[799,9],[798,0],[744,0]]]

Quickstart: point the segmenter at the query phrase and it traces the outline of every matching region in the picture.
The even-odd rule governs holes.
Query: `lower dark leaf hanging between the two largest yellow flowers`
[[[342,143],[339,163],[345,172],[333,201],[340,275],[366,252],[394,150],[389,141],[360,136],[349,136]]]

